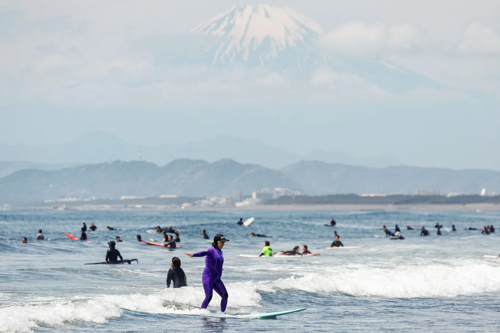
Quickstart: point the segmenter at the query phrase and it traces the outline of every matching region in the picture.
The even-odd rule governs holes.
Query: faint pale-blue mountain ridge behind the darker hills
[[[355,157],[341,152],[322,150],[308,154],[297,154],[283,148],[267,145],[259,140],[234,136],[217,136],[211,139],[188,143],[169,143],[155,146],[128,143],[108,132],[89,132],[65,144],[0,144],[0,156],[4,160],[29,160],[36,163],[75,164],[100,163],[109,160],[135,160],[141,153],[144,160],[164,165],[179,158],[203,159],[210,162],[231,158],[240,163],[257,163],[278,169],[300,160],[322,160],[329,163],[344,163],[383,167],[401,164],[385,156]],[[22,163],[9,162],[8,170],[26,168]],[[17,163],[17,164],[16,164]],[[16,166],[17,165],[17,168]],[[31,167],[31,166],[28,166]],[[49,167],[37,167],[50,169]],[[0,174],[7,170],[0,163]]]

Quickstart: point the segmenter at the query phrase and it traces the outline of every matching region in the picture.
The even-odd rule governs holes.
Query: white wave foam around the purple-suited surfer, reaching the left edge
[[[226,286],[229,293],[228,309],[260,306],[260,294],[256,292],[255,283],[234,282]],[[77,321],[104,323],[107,318],[120,316],[123,309],[148,313],[210,315],[208,310],[199,308],[203,298],[203,288],[193,286],[151,291],[148,294],[37,298],[38,304],[0,307],[0,331],[28,332],[39,324],[54,326]],[[44,304],[40,304],[41,302]],[[219,306],[220,297],[214,292],[209,308],[217,309]]]

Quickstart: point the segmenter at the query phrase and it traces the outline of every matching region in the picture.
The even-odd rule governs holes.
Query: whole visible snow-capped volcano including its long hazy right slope
[[[318,70],[360,77],[393,94],[444,86],[380,57],[346,57],[318,46],[323,29],[286,6],[236,5],[189,33],[188,49],[170,54],[173,65],[264,67],[310,79]]]

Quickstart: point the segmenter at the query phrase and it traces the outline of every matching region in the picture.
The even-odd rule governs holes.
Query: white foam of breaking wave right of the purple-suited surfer
[[[259,283],[262,291],[300,289],[310,292],[344,292],[379,297],[453,297],[500,291],[500,266],[400,265],[338,267],[331,273],[307,273]]]

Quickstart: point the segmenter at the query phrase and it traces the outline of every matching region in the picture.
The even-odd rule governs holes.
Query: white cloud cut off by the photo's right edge
[[[471,23],[463,34],[459,49],[468,53],[500,54],[500,35],[482,23]]]

